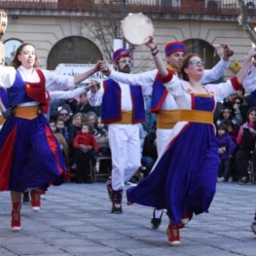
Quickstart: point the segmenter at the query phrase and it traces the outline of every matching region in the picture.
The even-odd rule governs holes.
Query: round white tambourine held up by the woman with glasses
[[[154,30],[151,19],[141,13],[128,14],[128,17],[121,21],[123,38],[133,46],[146,44]]]

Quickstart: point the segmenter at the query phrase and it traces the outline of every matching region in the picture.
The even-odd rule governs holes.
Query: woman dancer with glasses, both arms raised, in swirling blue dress
[[[218,148],[213,128],[215,101],[241,88],[251,58],[252,48],[237,77],[219,85],[201,86],[203,61],[188,55],[181,66],[184,80],[165,69],[154,37],[146,44],[160,71],[161,79],[177,102],[179,122],[174,126],[165,150],[152,172],[136,187],[127,191],[128,203],[166,208],[169,217],[167,237],[170,245],[180,245],[182,216],[207,212],[215,194]]]

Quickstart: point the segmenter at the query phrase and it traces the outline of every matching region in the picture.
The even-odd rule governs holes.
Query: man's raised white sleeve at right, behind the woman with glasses
[[[229,64],[229,61],[221,59],[212,69],[206,69],[203,71],[201,78],[201,84],[209,84],[210,82],[220,79]]]

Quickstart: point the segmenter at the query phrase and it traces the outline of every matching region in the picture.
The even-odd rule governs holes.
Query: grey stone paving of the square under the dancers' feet
[[[256,236],[249,228],[255,198],[255,184],[217,184],[209,213],[194,217],[181,230],[181,246],[172,247],[166,216],[160,229],[152,230],[151,208],[124,203],[123,214],[111,214],[103,182],[51,187],[40,212],[22,205],[18,233],[10,228],[10,195],[2,192],[0,256],[255,256]]]

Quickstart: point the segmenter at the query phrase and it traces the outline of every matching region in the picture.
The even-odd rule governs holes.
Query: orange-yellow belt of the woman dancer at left
[[[43,114],[43,111],[39,106],[30,106],[30,107],[18,107],[14,106],[10,111],[11,115],[18,118],[32,120]]]

